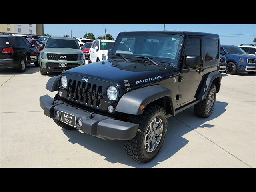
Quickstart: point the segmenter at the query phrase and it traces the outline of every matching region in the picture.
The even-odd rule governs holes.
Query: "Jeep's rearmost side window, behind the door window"
[[[205,61],[214,60],[219,58],[219,42],[218,39],[205,39]]]

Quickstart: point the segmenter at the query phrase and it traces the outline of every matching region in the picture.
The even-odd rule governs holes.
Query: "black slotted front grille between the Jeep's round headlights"
[[[67,99],[71,102],[99,109],[102,86],[70,79],[67,90]]]

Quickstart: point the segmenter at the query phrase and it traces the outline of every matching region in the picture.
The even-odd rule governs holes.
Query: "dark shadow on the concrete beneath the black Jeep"
[[[136,168],[154,167],[168,158],[172,157],[176,152],[188,144],[189,140],[183,138],[188,132],[200,128],[214,128],[214,125],[204,124],[214,118],[218,118],[226,111],[228,103],[216,101],[212,115],[206,119],[198,118],[194,114],[194,107],[191,107],[177,114],[175,117],[168,119],[168,130],[159,154],[152,161],[142,164],[136,162],[126,155],[123,149],[123,142],[116,140],[102,140],[100,138],[81,133],[78,130],[62,129],[64,134],[69,138],[68,141],[73,144],[79,144],[84,148],[91,150],[101,156],[106,157],[105,160],[111,163],[121,163]],[[182,122],[182,117],[186,117],[186,124]],[[190,118],[189,118],[190,117]],[[189,126],[187,126],[189,125]]]

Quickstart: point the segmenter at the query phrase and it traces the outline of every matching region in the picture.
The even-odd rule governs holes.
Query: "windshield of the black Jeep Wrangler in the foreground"
[[[176,61],[182,36],[172,34],[125,34],[120,35],[112,53],[134,56],[154,57],[153,60]]]

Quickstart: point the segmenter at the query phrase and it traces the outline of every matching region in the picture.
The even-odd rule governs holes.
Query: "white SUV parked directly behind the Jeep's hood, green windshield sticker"
[[[114,40],[94,40],[89,50],[89,63],[107,60],[108,50],[112,48],[114,42]]]

